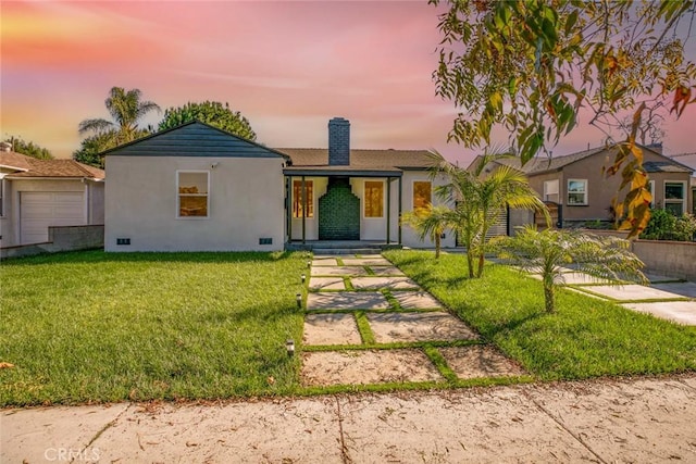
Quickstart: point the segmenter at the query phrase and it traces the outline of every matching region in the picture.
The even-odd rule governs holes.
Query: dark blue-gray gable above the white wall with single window
[[[273,149],[200,121],[192,121],[122,145],[103,154],[119,156],[286,158]]]

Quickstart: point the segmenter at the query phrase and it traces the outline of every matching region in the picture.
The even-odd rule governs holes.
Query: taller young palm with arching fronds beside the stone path
[[[538,211],[550,222],[546,205],[530,187],[524,173],[505,164],[497,164],[490,172],[484,171],[492,162],[511,155],[484,154],[471,171],[452,165],[437,152],[433,152],[432,156],[433,177],[444,174],[448,180],[437,187],[435,193],[457,204],[456,229],[467,247],[469,277],[483,276],[486,236],[507,208]],[[475,260],[477,265],[474,272]]]

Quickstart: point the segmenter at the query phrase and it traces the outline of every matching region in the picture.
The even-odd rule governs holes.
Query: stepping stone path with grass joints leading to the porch
[[[314,256],[310,265],[304,386],[445,383],[451,372],[459,379],[526,374],[482,344],[476,333],[383,256]],[[437,348],[428,354],[424,344],[432,342]],[[451,372],[440,372],[433,355]]]

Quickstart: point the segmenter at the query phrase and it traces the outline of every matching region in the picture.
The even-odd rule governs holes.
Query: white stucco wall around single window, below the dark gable
[[[104,249],[282,250],[282,163],[273,158],[107,156]],[[178,171],[209,172],[208,217],[177,217]],[[119,246],[117,238],[130,244]],[[259,244],[260,238],[273,243]]]

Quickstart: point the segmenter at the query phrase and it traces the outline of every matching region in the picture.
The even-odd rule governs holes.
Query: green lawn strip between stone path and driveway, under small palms
[[[544,312],[542,283],[488,264],[468,279],[465,258],[388,251],[409,277],[542,379],[662,374],[696,369],[696,327],[635,313],[569,290]]]

